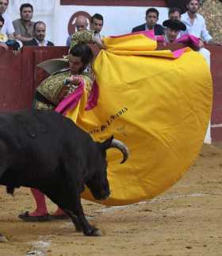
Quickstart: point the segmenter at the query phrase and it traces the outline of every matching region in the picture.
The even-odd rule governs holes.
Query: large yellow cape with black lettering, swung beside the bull
[[[87,95],[69,111],[95,141],[110,135],[128,145],[130,156],[108,150],[111,196],[100,204],[124,205],[151,199],[178,181],[205,138],[212,107],[212,79],[198,52],[178,58],[155,51],[144,35],[105,38],[94,61],[98,106],[85,111]],[[94,200],[90,192],[82,197]]]

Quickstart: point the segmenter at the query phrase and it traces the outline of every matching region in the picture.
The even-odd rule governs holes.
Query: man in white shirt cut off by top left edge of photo
[[[0,15],[5,20],[2,27],[2,33],[6,34],[9,38],[14,38],[13,22],[11,21],[8,14],[6,14],[6,9],[9,6],[9,0],[0,0]]]

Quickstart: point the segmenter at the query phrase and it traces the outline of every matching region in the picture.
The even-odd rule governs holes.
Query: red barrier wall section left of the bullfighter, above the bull
[[[17,56],[0,50],[0,111],[31,107],[35,87],[47,76],[36,64],[65,54],[67,47],[26,47]]]

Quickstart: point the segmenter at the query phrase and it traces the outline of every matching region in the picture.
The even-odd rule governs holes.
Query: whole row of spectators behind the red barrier
[[[15,21],[11,21],[6,9],[9,0],[0,0],[0,47],[9,48],[19,51],[21,45],[30,46],[53,46],[51,41],[46,40],[46,25],[43,21],[33,21],[33,6],[24,3],[20,7],[21,17]],[[178,41],[178,38],[184,35],[197,37],[197,49],[204,48],[205,43],[213,43],[209,31],[206,29],[205,18],[201,14],[197,14],[200,8],[198,0],[188,0],[186,2],[186,12],[182,14],[182,10],[173,7],[169,10],[169,20],[164,21],[163,25],[158,24],[159,11],[155,8],[149,8],[146,11],[146,22],[132,29],[132,33],[139,31],[152,30],[155,36],[163,36],[163,41],[172,43]],[[97,37],[102,37],[101,29],[103,26],[103,17],[101,14],[94,14],[91,17],[90,25],[86,17],[78,16],[75,20],[75,32],[94,30]],[[71,45],[70,35],[67,38],[66,45]],[[189,38],[190,39],[190,38]],[[195,40],[194,40],[195,41]],[[18,44],[18,42],[21,42]]]

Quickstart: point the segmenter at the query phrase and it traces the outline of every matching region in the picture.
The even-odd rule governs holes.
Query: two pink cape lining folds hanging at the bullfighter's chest
[[[63,99],[61,103],[55,108],[56,112],[61,114],[67,114],[67,111],[71,111],[75,109],[79,100],[82,97],[84,92],[84,81],[80,79],[80,83],[78,84],[78,88],[73,91],[67,98]],[[86,111],[90,111],[94,107],[97,106],[98,103],[98,84],[94,82],[92,90],[90,91],[90,96],[88,102],[86,103]]]

